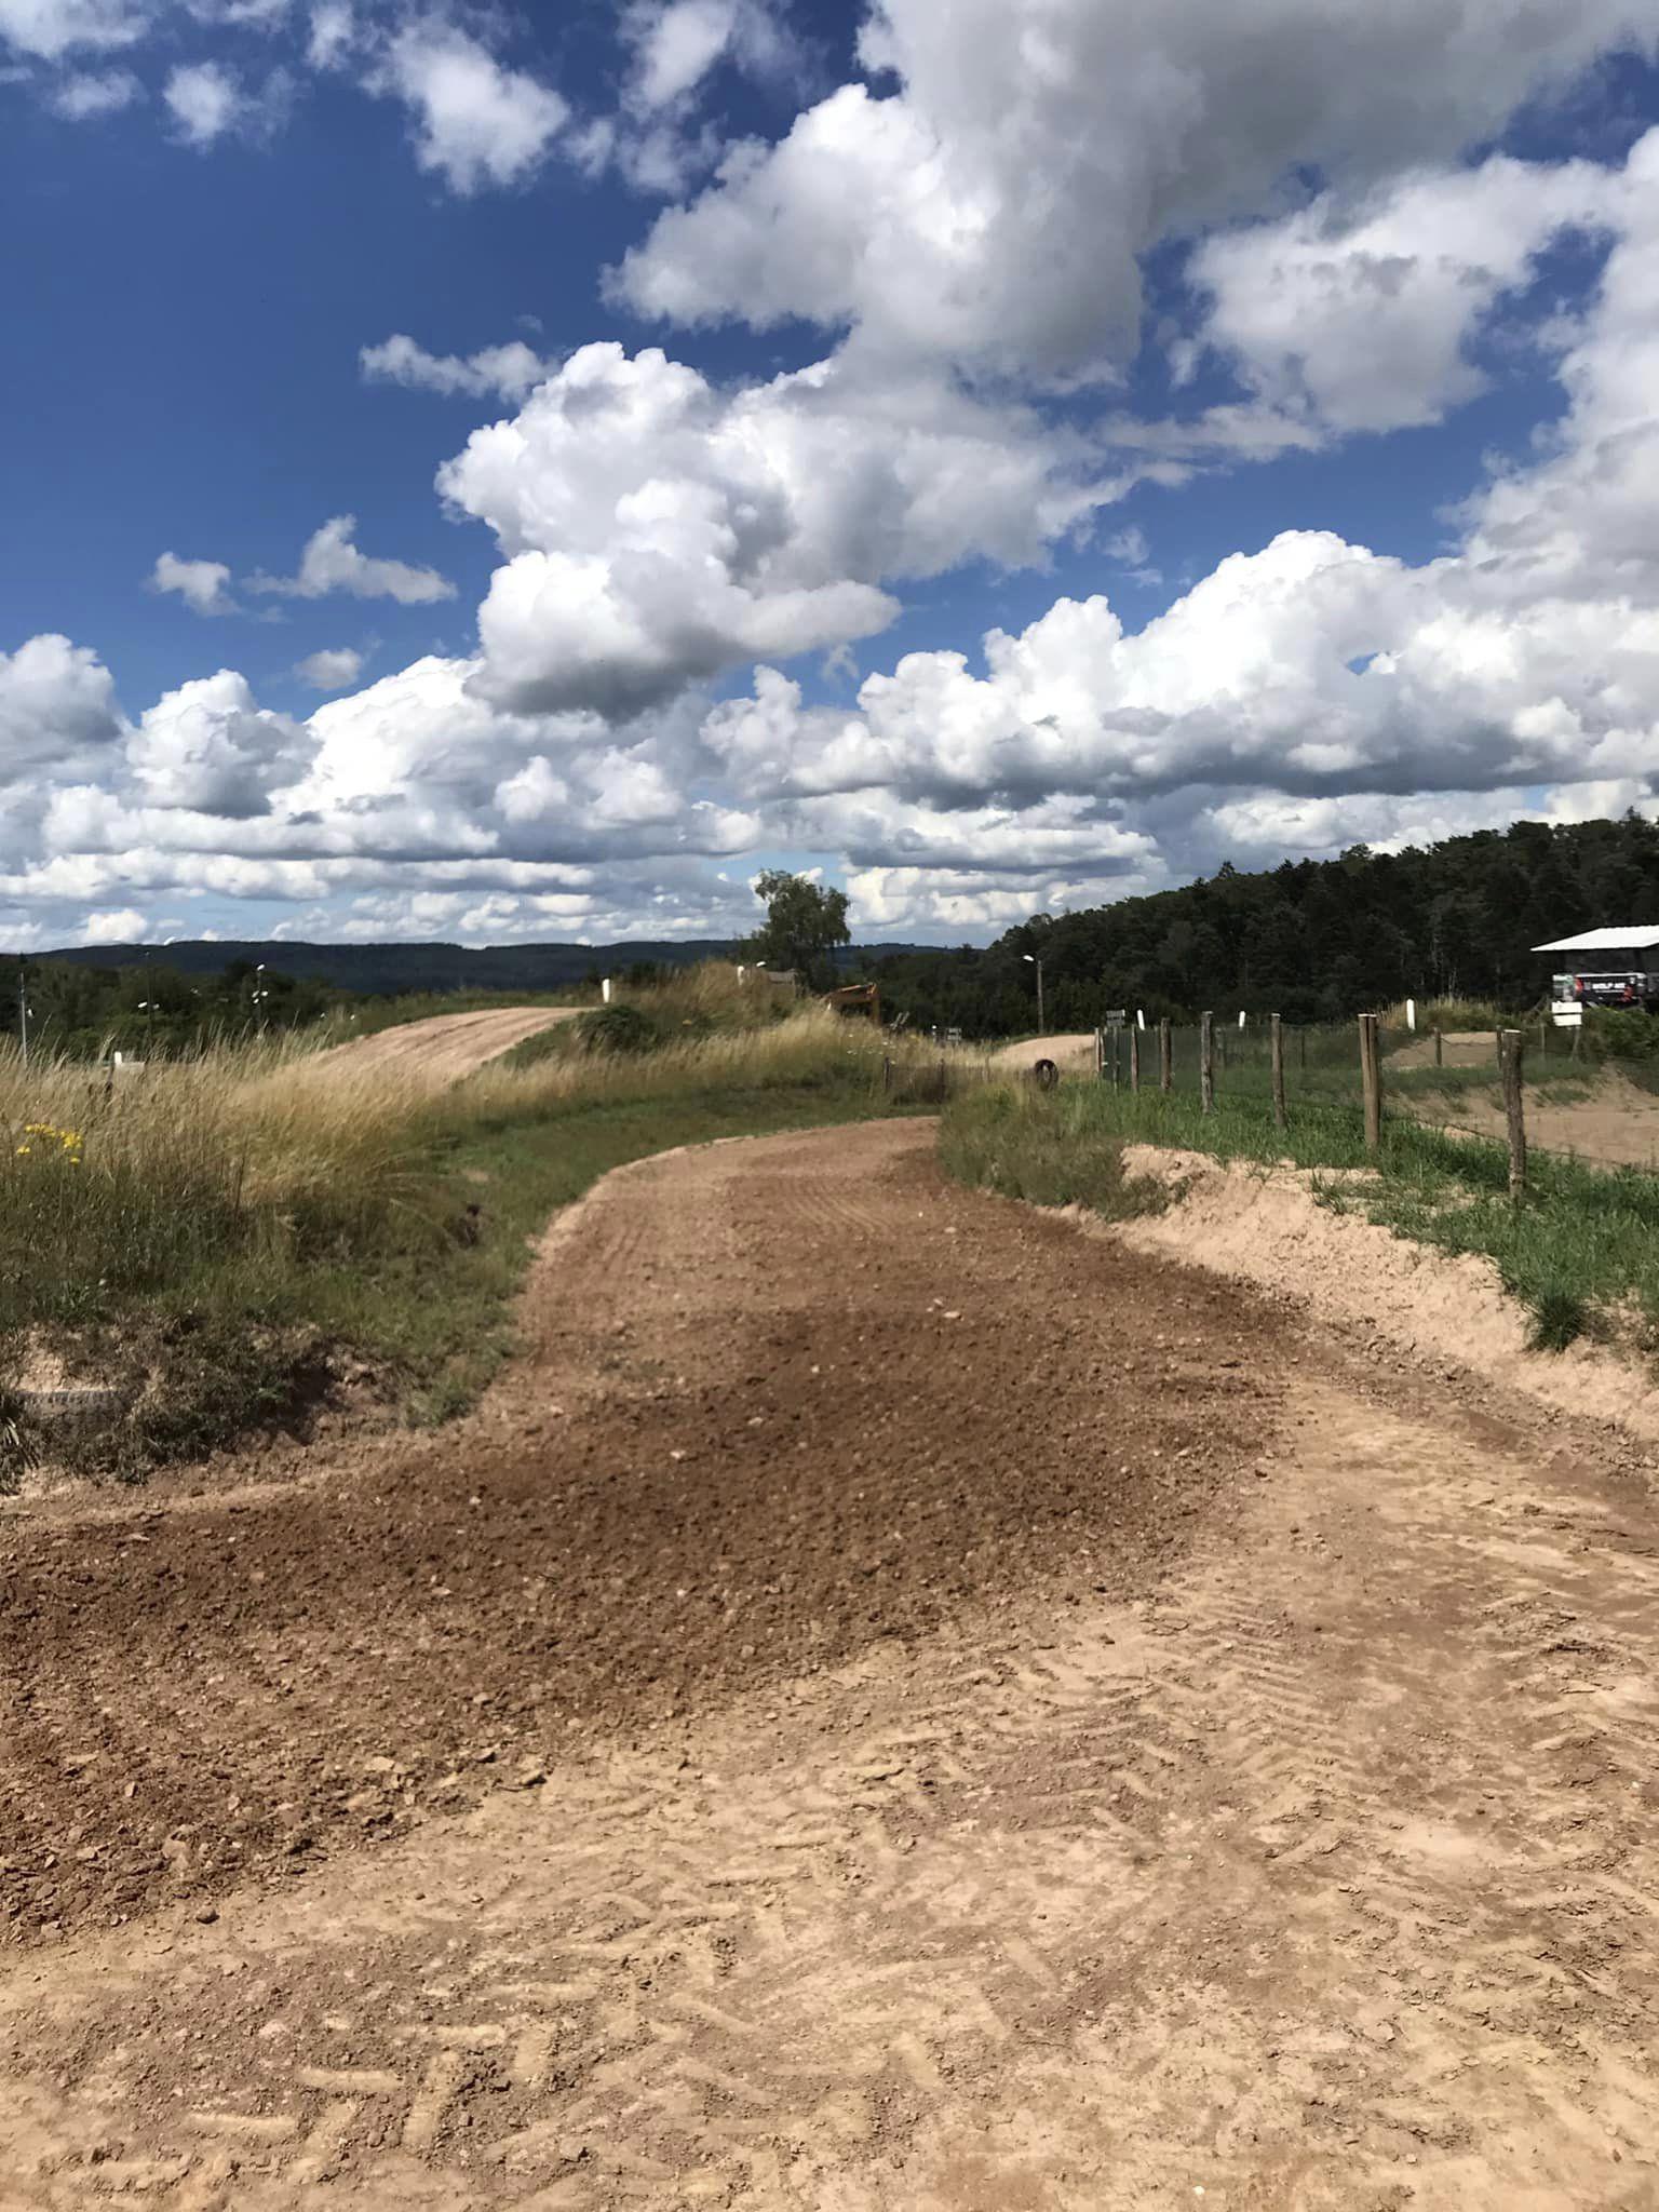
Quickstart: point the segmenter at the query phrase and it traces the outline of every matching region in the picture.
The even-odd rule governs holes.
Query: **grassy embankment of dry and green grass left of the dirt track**
[[[566,1024],[440,1093],[296,1042],[111,1093],[86,1066],[0,1057],[0,1396],[42,1354],[88,1380],[150,1376],[77,1451],[126,1478],[292,1420],[352,1369],[389,1411],[436,1420],[511,1347],[531,1239],[595,1177],[885,1110],[891,1046],[863,1022],[776,1018],[730,971],[639,1006],[641,1051],[582,1048]]]

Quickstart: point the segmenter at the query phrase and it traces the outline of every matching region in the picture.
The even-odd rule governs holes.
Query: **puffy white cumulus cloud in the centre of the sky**
[[[1018,407],[821,363],[721,392],[588,345],[438,476],[500,538],[480,611],[500,703],[637,712],[732,661],[891,622],[883,580],[1009,566],[1104,495]]]

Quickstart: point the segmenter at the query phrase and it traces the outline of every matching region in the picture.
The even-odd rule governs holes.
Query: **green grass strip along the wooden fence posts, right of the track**
[[[1537,1095],[1579,1095],[1595,1082],[1590,1066],[1551,1077]],[[1387,1093],[1383,1150],[1369,1155],[1352,1037],[1332,1033],[1307,1071],[1292,1068],[1287,1130],[1272,1121],[1265,1062],[1250,1060],[1219,1077],[1210,1115],[1186,1073],[1170,1095],[1095,1082],[1048,1095],[1020,1084],[984,1088],[947,1108],[940,1159],[964,1183],[1040,1206],[1088,1206],[1110,1219],[1166,1203],[1161,1186],[1124,1175],[1126,1141],[1312,1170],[1376,1168],[1365,1183],[1321,1188],[1316,1179],[1316,1194],[1398,1237],[1491,1259],[1531,1312],[1537,1347],[1601,1334],[1615,1314],[1637,1314],[1644,1340],[1659,1343],[1657,1177],[1535,1152],[1528,1192],[1515,1206],[1502,1144],[1433,1126],[1455,1121],[1469,1095],[1495,1099],[1493,1068],[1391,1071]]]

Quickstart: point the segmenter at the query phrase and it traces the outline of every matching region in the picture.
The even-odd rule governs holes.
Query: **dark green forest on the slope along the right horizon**
[[[987,949],[869,962],[885,1011],[967,1037],[1035,1029],[1044,967],[1051,1031],[1093,1029],[1110,1006],[1148,1020],[1214,1011],[1334,1022],[1400,998],[1531,1006],[1548,987],[1546,938],[1617,922],[1659,927],[1659,827],[1513,823],[1398,854],[1223,865],[1201,883],[1082,914],[1040,914]]]

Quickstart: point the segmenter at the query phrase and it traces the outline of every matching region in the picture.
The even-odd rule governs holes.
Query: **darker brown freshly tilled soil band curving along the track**
[[[918,1124],[624,1170],[526,1325],[438,1438],[252,1502],[7,1513],[13,1936],[383,1843],[1033,1579],[1130,1586],[1270,1440],[1290,1329],[942,1183]]]

